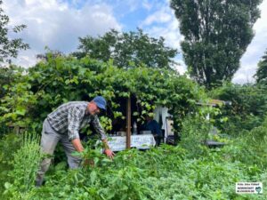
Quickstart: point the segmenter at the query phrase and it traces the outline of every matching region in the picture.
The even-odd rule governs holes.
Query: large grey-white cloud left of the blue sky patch
[[[108,4],[87,3],[76,9],[56,0],[9,0],[4,2],[4,12],[12,26],[28,26],[18,36],[31,50],[20,52],[21,57],[15,60],[25,66],[35,63],[36,53],[44,52],[45,45],[53,50],[73,52],[77,49],[78,36],[97,36],[110,28],[121,29]]]

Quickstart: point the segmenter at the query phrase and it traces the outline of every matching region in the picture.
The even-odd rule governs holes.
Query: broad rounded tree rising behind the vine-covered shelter
[[[104,36],[79,37],[80,52],[72,55],[78,59],[89,55],[93,59],[114,60],[119,68],[131,68],[145,64],[150,68],[171,68],[177,50],[166,47],[163,37],[150,37],[138,29],[138,32],[119,33],[111,29]]]

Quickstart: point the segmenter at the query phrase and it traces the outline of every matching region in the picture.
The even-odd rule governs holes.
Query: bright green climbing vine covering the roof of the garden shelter
[[[206,99],[204,90],[186,76],[161,68],[117,68],[112,61],[101,62],[85,57],[51,57],[33,68],[15,73],[15,81],[4,84],[0,123],[23,124],[38,129],[53,108],[69,100],[91,100],[102,95],[109,112],[101,117],[107,131],[111,120],[123,118],[119,100],[135,99],[142,116],[157,105],[170,108],[179,132],[182,118],[196,109],[195,102]]]

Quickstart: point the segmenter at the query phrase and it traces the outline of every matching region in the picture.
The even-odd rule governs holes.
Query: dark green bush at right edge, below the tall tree
[[[267,111],[267,87],[261,84],[224,84],[210,92],[213,99],[230,100],[232,105],[222,108],[222,115],[228,121],[216,126],[225,133],[236,135],[241,129],[250,131],[261,125]]]

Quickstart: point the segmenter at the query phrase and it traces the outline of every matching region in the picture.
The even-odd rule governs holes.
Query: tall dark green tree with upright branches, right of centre
[[[262,0],[172,0],[190,76],[206,88],[231,81],[251,42]]]

